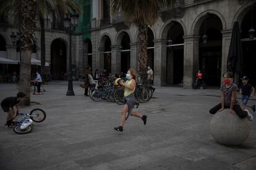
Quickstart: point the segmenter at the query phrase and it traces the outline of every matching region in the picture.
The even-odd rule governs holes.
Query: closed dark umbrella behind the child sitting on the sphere
[[[231,42],[228,51],[227,70],[235,74],[235,83],[239,83],[239,74],[242,73],[242,45],[240,38],[239,23],[234,22]]]

